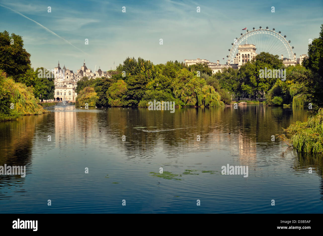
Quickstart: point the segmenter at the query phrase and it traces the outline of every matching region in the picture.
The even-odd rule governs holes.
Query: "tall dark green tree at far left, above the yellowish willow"
[[[15,81],[30,69],[30,54],[23,48],[23,42],[20,35],[0,32],[0,70],[13,76]]]

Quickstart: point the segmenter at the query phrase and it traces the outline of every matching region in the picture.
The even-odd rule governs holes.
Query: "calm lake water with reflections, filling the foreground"
[[[306,121],[306,110],[47,109],[52,112],[0,123],[0,165],[26,165],[25,178],[0,175],[1,213],[323,210],[322,158],[271,141],[282,127]],[[248,166],[248,177],[222,175],[227,164]],[[154,176],[160,167],[165,178]]]

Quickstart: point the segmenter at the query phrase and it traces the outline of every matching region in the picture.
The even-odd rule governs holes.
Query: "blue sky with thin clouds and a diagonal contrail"
[[[323,0],[0,0],[0,32],[23,37],[32,67],[54,69],[59,60],[75,72],[84,60],[94,72],[113,70],[127,57],[154,64],[196,58],[222,63],[242,29],[259,26],[287,35],[299,57],[321,24]]]

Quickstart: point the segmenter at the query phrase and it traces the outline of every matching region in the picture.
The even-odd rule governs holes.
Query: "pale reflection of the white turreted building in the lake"
[[[59,146],[61,142],[77,140],[76,112],[55,112],[55,142]]]

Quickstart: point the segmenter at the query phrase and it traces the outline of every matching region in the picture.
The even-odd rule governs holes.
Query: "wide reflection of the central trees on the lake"
[[[300,117],[301,115],[301,117]],[[256,142],[272,145],[271,136],[282,132],[282,127],[290,125],[293,112],[281,107],[271,108],[262,105],[216,108],[181,108],[170,111],[150,111],[146,108],[118,109],[96,113],[102,129],[109,130],[110,145],[125,149],[133,158],[156,155],[156,150],[167,156],[179,156],[187,152],[203,151],[221,142],[239,143],[242,155],[252,152],[256,156]],[[297,114],[300,120],[306,120],[304,111]],[[134,128],[135,126],[145,128]],[[162,131],[168,129],[168,131]],[[173,130],[172,130],[173,129]],[[152,132],[144,132],[148,130]],[[227,135],[231,132],[231,136]],[[126,142],[121,142],[121,136]],[[196,141],[196,136],[201,141]],[[118,141],[114,141],[118,140]],[[253,150],[249,150],[252,148]],[[243,150],[242,150],[243,149]]]

